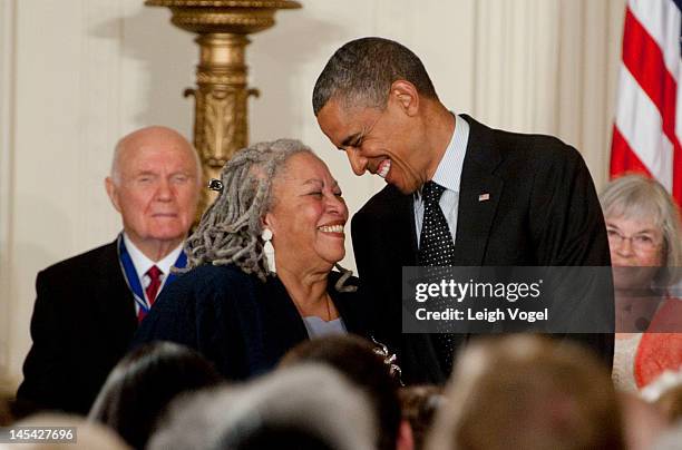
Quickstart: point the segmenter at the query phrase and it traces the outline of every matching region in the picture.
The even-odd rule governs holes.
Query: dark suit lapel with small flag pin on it
[[[459,190],[455,258],[457,265],[477,266],[484,263],[504,187],[501,178],[494,175],[501,156],[489,128],[469,116],[461,117],[469,123],[470,129]]]

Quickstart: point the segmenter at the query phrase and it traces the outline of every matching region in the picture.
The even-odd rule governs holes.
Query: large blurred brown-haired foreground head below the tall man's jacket
[[[533,335],[474,342],[460,355],[430,449],[621,449],[608,371],[573,343]]]

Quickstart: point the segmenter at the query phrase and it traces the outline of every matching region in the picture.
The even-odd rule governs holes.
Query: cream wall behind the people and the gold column
[[[311,145],[351,212],[383,182],[352,175],[318,129],[311,90],[335,48],[368,35],[420,55],[452,110],[558,135],[604,182],[624,0],[302,2],[252,37],[251,85],[262,94],[251,102],[252,140]],[[30,346],[36,273],[119,229],[103,187],[116,139],[150,124],[191,133],[181,92],[193,84],[192,36],[142,3],[0,0],[0,374],[12,389]]]

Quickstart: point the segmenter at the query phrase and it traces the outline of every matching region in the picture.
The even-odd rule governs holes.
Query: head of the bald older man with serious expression
[[[196,215],[201,184],[202,169],[192,144],[160,126],[121,138],[105,180],[124,231],[148,257],[159,247],[170,252],[185,239]]]

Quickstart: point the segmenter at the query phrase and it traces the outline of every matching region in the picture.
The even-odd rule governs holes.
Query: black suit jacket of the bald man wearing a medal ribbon
[[[19,410],[87,414],[137,327],[116,243],[46,268],[36,291],[33,345],[23,363]]]

